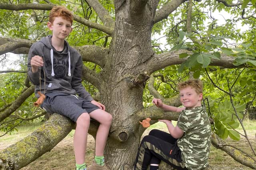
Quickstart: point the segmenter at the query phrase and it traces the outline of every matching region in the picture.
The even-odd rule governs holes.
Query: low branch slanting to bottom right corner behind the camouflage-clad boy
[[[225,142],[220,139],[216,134],[212,134],[212,145],[217,149],[221,149],[227,154],[229,154],[234,160],[240,162],[241,164],[248,166],[252,169],[256,169],[256,162],[252,158],[245,155],[240,150],[236,150],[233,147],[225,146]]]

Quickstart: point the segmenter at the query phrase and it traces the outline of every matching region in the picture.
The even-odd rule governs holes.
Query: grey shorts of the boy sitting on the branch
[[[74,122],[76,122],[82,113],[91,113],[96,109],[100,109],[90,101],[86,101],[75,95],[63,93],[55,94],[46,94],[46,98],[41,107],[50,113],[58,113],[66,116]]]

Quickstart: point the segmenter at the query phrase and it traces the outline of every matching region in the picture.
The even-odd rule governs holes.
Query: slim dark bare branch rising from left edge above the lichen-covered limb
[[[28,88],[25,92],[23,92],[17,99],[12,103],[10,107],[5,109],[3,112],[0,113],[0,122],[3,121],[6,117],[11,115],[18,107],[22,105],[22,103],[33,94],[34,86]]]

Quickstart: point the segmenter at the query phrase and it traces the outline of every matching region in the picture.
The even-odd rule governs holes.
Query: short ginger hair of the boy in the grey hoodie
[[[56,17],[62,17],[65,20],[71,22],[73,24],[74,16],[70,10],[68,10],[65,6],[54,6],[49,14],[49,22],[53,23]]]

